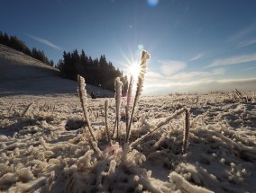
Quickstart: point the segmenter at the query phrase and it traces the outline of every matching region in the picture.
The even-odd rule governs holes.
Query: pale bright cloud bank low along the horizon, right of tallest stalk
[[[217,73],[217,71],[215,72]],[[169,77],[154,72],[146,75],[144,94],[167,94],[171,92],[210,92],[254,90],[256,78],[215,79],[214,72],[205,73],[213,76],[201,76],[199,79],[191,79],[186,82],[174,81]],[[195,75],[195,72],[194,72]],[[197,75],[203,75],[197,72]]]

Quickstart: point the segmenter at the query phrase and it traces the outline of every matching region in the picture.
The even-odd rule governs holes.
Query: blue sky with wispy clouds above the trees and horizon
[[[254,0],[2,0],[0,31],[44,50],[105,54],[126,72],[151,53],[144,92],[256,90]]]

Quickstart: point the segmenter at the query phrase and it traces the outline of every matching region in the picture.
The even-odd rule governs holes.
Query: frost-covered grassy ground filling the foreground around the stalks
[[[120,144],[107,145],[105,99],[88,101],[96,144],[89,140],[78,95],[1,97],[0,191],[256,192],[256,104],[227,102],[226,97],[199,95],[197,101],[197,96],[173,95],[139,101],[130,142],[187,107],[187,154],[181,154],[183,115],[132,149],[123,145],[124,136]],[[110,99],[111,131],[114,112]]]

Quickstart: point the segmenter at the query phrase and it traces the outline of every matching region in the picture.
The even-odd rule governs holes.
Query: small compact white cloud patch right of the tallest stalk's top
[[[173,75],[186,68],[187,64],[182,61],[159,60],[160,70],[163,75]]]

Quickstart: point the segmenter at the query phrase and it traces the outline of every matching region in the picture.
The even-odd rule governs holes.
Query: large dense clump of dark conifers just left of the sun
[[[77,49],[72,53],[64,51],[63,59],[59,60],[57,68],[66,78],[77,80],[77,76],[82,75],[86,83],[110,91],[114,91],[116,77],[122,77],[123,83],[127,82],[127,77],[123,76],[123,73],[111,62],[107,62],[105,55],[101,55],[99,59],[92,59],[92,57],[87,57],[83,49],[80,54]]]

